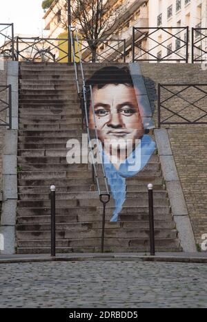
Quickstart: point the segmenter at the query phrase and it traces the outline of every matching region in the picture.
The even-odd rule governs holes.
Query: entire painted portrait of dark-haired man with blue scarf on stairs
[[[97,131],[99,153],[115,201],[111,222],[117,222],[126,200],[126,178],[136,175],[155,151],[149,135],[154,128],[152,110],[139,65],[106,66],[86,86],[88,125]]]

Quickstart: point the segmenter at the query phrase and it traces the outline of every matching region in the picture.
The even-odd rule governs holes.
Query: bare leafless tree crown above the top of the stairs
[[[112,28],[117,25],[117,17],[121,12],[124,13],[128,1],[125,1],[124,5],[123,1],[117,4],[117,0],[71,0],[71,2],[73,24],[78,26],[79,33],[96,55],[99,39],[111,35]],[[58,0],[56,6],[51,8],[55,15],[61,10],[59,22],[56,24],[62,28],[68,28],[67,4],[67,0]]]

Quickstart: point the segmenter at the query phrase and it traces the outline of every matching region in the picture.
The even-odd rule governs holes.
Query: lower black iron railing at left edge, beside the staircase
[[[12,128],[12,86],[0,85],[0,126]]]

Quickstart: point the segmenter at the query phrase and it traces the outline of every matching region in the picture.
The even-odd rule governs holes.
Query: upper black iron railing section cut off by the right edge
[[[192,28],[192,63],[207,62],[207,28]]]

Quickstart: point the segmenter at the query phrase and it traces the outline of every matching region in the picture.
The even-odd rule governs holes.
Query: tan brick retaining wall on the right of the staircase
[[[165,84],[207,84],[207,73],[198,64],[143,63],[141,64],[141,71],[146,78],[145,82],[150,101],[153,102],[155,98],[154,115],[156,124],[157,98],[155,88],[157,88],[158,82]],[[153,82],[155,82],[155,85]],[[178,88],[175,87],[175,90],[178,90]],[[192,91],[194,90],[192,89]],[[167,97],[168,94],[165,95]],[[188,99],[196,99],[197,97],[199,97],[198,91],[195,91],[195,93],[188,91]],[[206,109],[206,106],[207,102],[204,99],[201,102],[201,107]],[[173,106],[169,107],[178,111],[181,107],[184,107],[184,102],[176,99]],[[168,112],[162,115],[168,116]],[[194,116],[197,116],[197,111],[192,108],[185,109],[183,115],[193,119]],[[207,121],[207,118],[205,120]],[[207,184],[207,125],[168,125],[168,136],[195,238],[197,243],[201,243],[201,235],[207,233],[207,198],[205,197],[206,193],[204,193]]]

